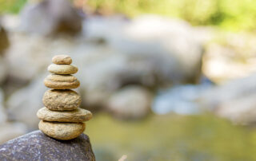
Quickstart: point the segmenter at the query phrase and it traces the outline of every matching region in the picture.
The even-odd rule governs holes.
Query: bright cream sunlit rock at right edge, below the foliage
[[[215,40],[206,45],[202,73],[223,84],[256,72],[256,37],[250,32],[214,32]]]

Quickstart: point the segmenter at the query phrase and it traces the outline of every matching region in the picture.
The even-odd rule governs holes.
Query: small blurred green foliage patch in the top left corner
[[[27,0],[0,0],[0,14],[13,13],[17,14]]]

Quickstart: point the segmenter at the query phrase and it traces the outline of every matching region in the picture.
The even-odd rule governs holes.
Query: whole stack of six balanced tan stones
[[[92,114],[82,108],[81,97],[70,88],[78,88],[80,82],[71,74],[77,73],[78,68],[67,55],[57,55],[48,67],[50,74],[44,84],[49,89],[45,92],[42,102],[46,106],[38,110],[37,116],[41,120],[39,129],[55,139],[74,139],[86,128],[83,123],[90,120]]]

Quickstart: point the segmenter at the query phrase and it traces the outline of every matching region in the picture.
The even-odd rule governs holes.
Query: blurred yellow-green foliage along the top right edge
[[[256,26],[254,0],[88,0],[94,10],[138,14],[162,14],[182,18],[195,26],[252,30]]]

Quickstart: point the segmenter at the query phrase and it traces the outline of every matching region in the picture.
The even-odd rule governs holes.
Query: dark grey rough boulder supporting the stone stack
[[[76,139],[58,140],[34,131],[0,145],[0,160],[95,161],[95,156],[85,134]]]

